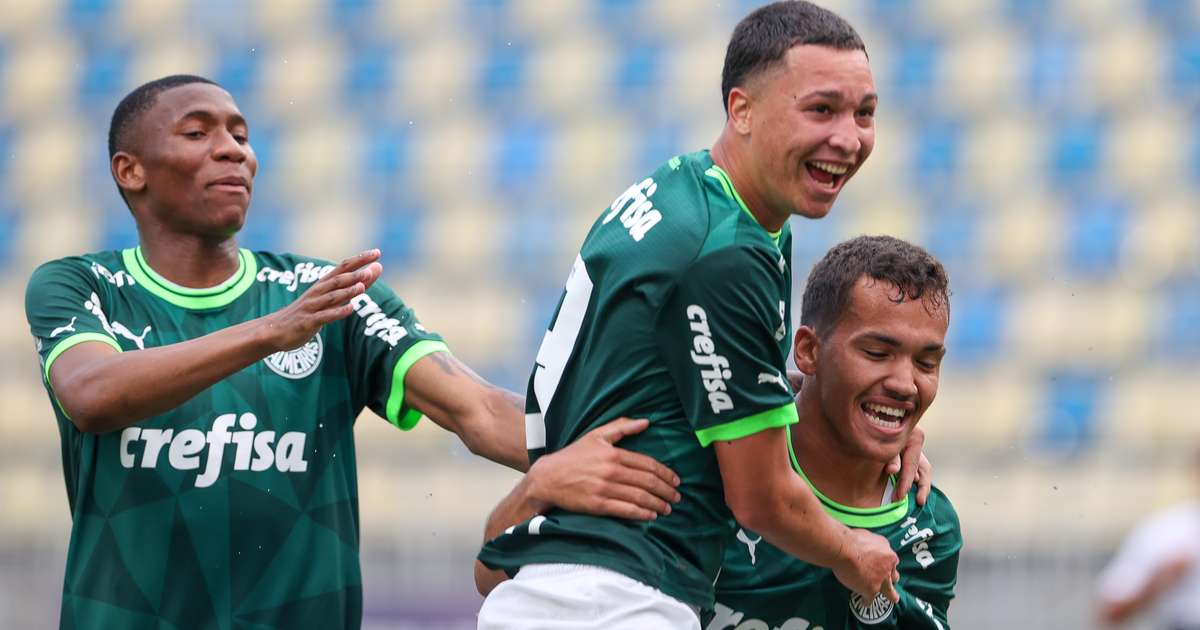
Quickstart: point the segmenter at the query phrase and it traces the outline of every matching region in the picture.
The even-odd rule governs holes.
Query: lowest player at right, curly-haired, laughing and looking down
[[[830,516],[888,539],[900,556],[900,599],[860,598],[829,569],[740,528],[725,548],[704,630],[949,629],[958,515],[936,487],[923,506],[916,491],[893,500],[886,472],[937,395],[949,314],[941,263],[902,240],[859,236],[812,268],[794,343],[804,384],[792,466]]]

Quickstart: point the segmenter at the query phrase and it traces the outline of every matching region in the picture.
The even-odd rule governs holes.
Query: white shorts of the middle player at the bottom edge
[[[583,564],[528,564],[479,610],[479,630],[700,630],[686,604]]]

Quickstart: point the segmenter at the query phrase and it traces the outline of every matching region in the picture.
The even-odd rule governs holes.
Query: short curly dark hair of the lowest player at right
[[[930,312],[950,311],[950,280],[932,254],[893,236],[856,236],[834,245],[812,266],[804,287],[800,324],[818,336],[834,329],[858,278],[868,276],[895,289],[892,300],[924,300]]]

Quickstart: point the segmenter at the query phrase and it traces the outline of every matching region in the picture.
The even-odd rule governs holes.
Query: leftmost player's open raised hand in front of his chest
[[[299,348],[320,326],[353,313],[350,300],[366,292],[383,274],[378,260],[379,250],[367,250],[347,258],[308,287],[296,301],[264,317],[270,347],[276,352]]]

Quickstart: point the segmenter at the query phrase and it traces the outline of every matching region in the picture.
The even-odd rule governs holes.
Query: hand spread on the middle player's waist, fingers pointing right
[[[671,514],[679,476],[653,457],[613,445],[648,426],[649,420],[618,418],[540,457],[526,475],[533,505],[541,512],[562,508],[641,521]]]

